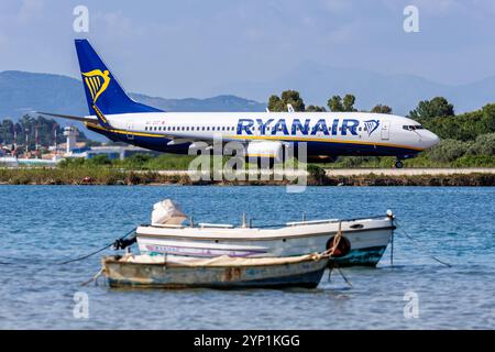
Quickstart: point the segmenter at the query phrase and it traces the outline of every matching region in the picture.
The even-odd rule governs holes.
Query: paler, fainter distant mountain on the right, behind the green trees
[[[333,95],[353,94],[360,109],[385,103],[395,113],[407,114],[420,100],[443,96],[457,112],[471,111],[495,101],[495,77],[469,85],[449,86],[414,75],[384,75],[362,69],[336,68],[311,61],[287,74],[266,81],[237,81],[217,87],[216,91],[266,101],[273,94],[295,89],[305,102],[326,106]]]

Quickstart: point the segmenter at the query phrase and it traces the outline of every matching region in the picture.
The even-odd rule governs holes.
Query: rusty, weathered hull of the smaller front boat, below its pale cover
[[[103,258],[110,287],[136,288],[284,288],[318,286],[328,258],[275,265],[188,266],[143,264]]]

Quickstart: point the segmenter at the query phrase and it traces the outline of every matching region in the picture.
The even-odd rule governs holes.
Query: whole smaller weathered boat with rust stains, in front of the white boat
[[[102,272],[111,287],[282,288],[317,287],[328,254],[290,257],[215,258],[167,262],[164,255],[107,256]]]

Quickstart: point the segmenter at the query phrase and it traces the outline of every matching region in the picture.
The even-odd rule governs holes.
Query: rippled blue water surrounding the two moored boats
[[[361,217],[393,209],[421,249],[400,232],[395,266],[346,268],[317,289],[113,290],[80,284],[100,255],[77,257],[148,221],[152,205],[177,200],[196,221],[254,223]],[[495,188],[99,187],[0,186],[0,328],[20,329],[435,329],[495,328]],[[444,267],[427,251],[452,264]],[[110,254],[108,250],[105,253]],[[19,262],[18,258],[25,261]],[[89,298],[89,318],[73,316],[74,295]],[[419,317],[406,318],[406,293]]]

